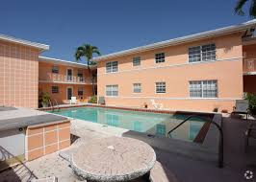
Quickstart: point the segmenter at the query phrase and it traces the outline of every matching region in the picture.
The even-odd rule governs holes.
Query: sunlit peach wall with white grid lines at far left
[[[38,55],[0,40],[0,105],[38,107]]]

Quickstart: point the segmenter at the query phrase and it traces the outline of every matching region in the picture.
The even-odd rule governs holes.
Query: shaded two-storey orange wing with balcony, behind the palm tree
[[[84,63],[51,57],[39,57],[38,92],[48,93],[53,102],[69,103],[72,96],[87,102],[92,95],[91,75],[96,76],[96,67]],[[96,78],[93,79],[96,88]],[[56,104],[56,103],[54,103]]]

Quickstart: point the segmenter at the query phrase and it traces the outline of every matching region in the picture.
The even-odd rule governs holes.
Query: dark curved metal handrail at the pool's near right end
[[[213,125],[216,125],[217,128],[218,128],[218,132],[219,132],[219,141],[218,141],[218,168],[223,168],[223,153],[224,153],[224,147],[223,147],[223,130],[221,128],[220,125],[218,125],[216,122],[210,120],[210,119],[207,119],[207,118],[204,118],[204,117],[201,117],[201,116],[198,116],[198,115],[192,115],[192,116],[189,116],[188,118],[186,118],[182,123],[180,123],[179,125],[176,125],[174,128],[172,128],[170,131],[168,131],[167,135],[168,137],[170,137],[170,133],[173,132],[174,130],[176,130],[179,126],[185,124],[186,122],[188,122],[190,119],[192,118],[199,118],[199,119],[202,119],[210,124],[213,124]]]

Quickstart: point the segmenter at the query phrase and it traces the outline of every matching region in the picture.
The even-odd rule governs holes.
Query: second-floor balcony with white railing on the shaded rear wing
[[[74,84],[91,84],[90,77],[78,77],[78,76],[67,76],[62,74],[46,74],[46,77],[39,77],[40,82],[58,82],[58,83],[74,83]],[[94,79],[93,83],[96,83],[97,80]]]

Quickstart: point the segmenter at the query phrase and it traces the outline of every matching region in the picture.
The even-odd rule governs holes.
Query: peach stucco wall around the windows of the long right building
[[[188,48],[216,43],[217,61],[188,63]],[[166,62],[155,63],[156,53],[166,53]],[[132,58],[141,57],[141,66],[133,67]],[[105,64],[118,61],[118,72],[106,74]],[[181,44],[126,57],[98,62],[98,96],[105,96],[105,86],[118,84],[118,97],[106,97],[110,105],[152,108],[150,99],[173,110],[231,111],[236,99],[243,96],[243,50],[241,34],[229,34]],[[217,99],[192,99],[190,80],[218,80]],[[155,82],[166,81],[166,93],[155,93]],[[141,93],[133,93],[133,83],[141,83]]]

